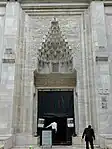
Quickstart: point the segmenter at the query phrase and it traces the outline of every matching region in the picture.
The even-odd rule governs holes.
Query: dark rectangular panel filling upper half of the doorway
[[[39,91],[39,117],[68,115],[73,117],[73,91]]]

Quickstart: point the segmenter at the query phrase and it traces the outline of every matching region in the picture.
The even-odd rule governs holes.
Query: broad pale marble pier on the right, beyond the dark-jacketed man
[[[93,67],[95,82],[94,88],[94,110],[97,111],[97,115],[94,116],[96,121],[96,128],[100,134],[108,133],[109,122],[105,121],[107,117],[108,107],[103,108],[102,101],[105,98],[105,104],[108,105],[108,99],[110,98],[110,75],[109,75],[109,61],[108,61],[108,49],[107,49],[107,37],[106,37],[106,24],[105,24],[105,12],[103,2],[91,3],[91,28],[92,28],[92,50],[93,50]],[[99,51],[99,52],[98,52]],[[105,55],[102,58],[102,54]],[[96,57],[98,58],[98,61]],[[107,58],[106,58],[107,57]],[[102,90],[102,93],[100,91]],[[105,92],[107,90],[107,92]],[[102,97],[103,96],[103,97]],[[103,115],[102,115],[103,112]]]

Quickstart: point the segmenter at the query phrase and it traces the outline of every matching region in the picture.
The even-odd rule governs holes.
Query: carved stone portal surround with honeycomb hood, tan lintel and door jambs
[[[36,133],[38,112],[38,89],[72,89],[74,94],[74,112],[76,112],[76,70],[73,70],[73,50],[61,32],[59,22],[54,18],[48,34],[38,50],[38,69],[34,71],[34,133]],[[77,112],[76,112],[77,113]],[[76,114],[75,113],[75,114]],[[75,116],[77,117],[77,116]],[[76,124],[77,125],[77,124]],[[78,130],[78,125],[77,125]]]

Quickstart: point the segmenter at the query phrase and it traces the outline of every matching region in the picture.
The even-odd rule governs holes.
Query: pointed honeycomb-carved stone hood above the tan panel
[[[38,52],[38,64],[40,71],[45,67],[45,63],[50,65],[49,62],[51,62],[52,68],[54,68],[53,66],[56,66],[57,64],[60,67],[59,62],[61,62],[63,63],[62,65],[68,65],[68,71],[72,70],[73,51],[62,34],[56,18],[54,18],[51,22],[51,27],[48,30],[48,34],[43,39],[42,45],[38,49]],[[59,67],[56,69],[57,71],[59,71]]]

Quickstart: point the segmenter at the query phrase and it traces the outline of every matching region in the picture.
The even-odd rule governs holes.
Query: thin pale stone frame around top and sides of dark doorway
[[[74,118],[75,118],[75,132],[79,134],[79,108],[78,108],[78,97],[76,95],[75,87],[36,87],[35,88],[35,103],[33,104],[33,135],[37,134],[37,126],[38,126],[38,91],[73,91],[74,97]],[[34,110],[35,109],[35,110]],[[34,112],[35,111],[35,112]]]

